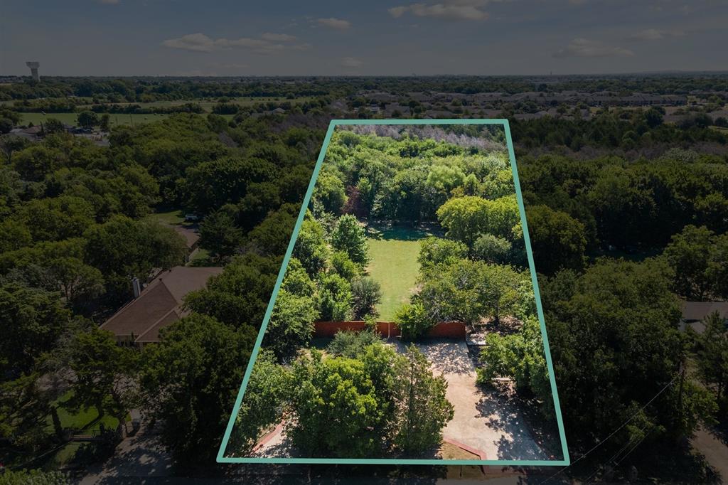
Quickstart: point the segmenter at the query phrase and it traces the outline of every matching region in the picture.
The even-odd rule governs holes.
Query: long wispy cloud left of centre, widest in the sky
[[[239,39],[212,39],[204,33],[189,33],[176,39],[162,41],[162,45],[170,49],[189,50],[192,52],[213,52],[215,50],[242,48],[256,52],[257,54],[272,54],[282,50],[304,50],[311,47],[310,44],[281,44],[296,39],[282,33],[264,33],[261,39],[240,37]],[[280,41],[280,42],[274,42]]]

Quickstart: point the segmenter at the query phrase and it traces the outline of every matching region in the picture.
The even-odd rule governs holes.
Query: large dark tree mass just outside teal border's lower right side
[[[563,417],[575,443],[594,443],[612,433],[663,387],[677,390],[670,383],[678,383],[684,342],[671,279],[659,259],[603,259],[583,275],[564,270],[543,282],[554,373],[561,408],[571,410]],[[657,399],[644,411],[645,425],[656,430],[653,439],[681,433],[676,416],[692,404],[684,401],[683,409],[678,404]],[[635,431],[617,433],[617,445]]]

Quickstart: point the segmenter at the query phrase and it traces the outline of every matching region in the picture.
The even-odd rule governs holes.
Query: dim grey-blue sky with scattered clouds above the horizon
[[[728,0],[0,0],[0,75],[728,70]]]

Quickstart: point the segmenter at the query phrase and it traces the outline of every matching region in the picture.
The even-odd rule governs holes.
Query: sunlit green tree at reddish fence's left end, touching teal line
[[[297,296],[280,290],[266,327],[264,346],[279,359],[290,357],[309,342],[318,316],[312,296]]]

